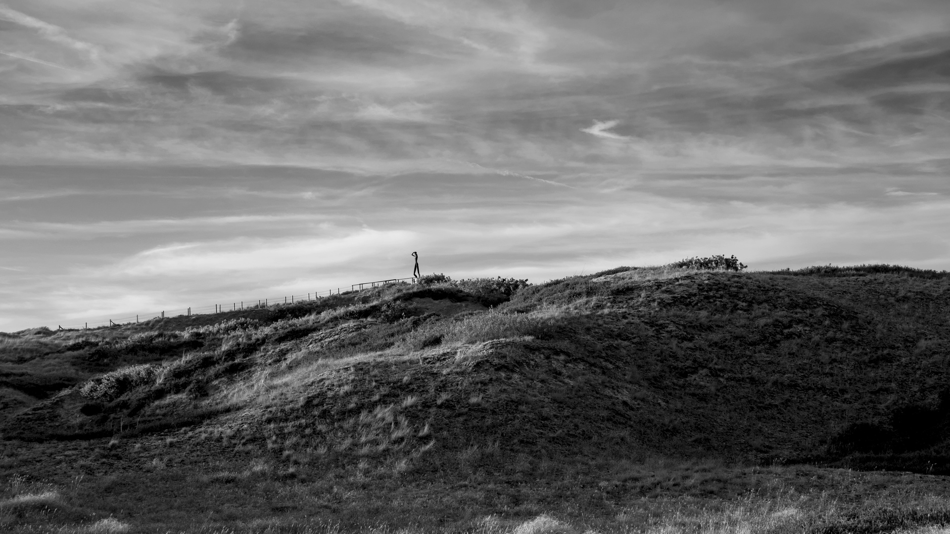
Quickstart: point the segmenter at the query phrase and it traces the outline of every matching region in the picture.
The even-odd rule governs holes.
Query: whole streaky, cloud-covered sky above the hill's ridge
[[[950,269],[946,0],[0,0],[0,331],[424,273]]]

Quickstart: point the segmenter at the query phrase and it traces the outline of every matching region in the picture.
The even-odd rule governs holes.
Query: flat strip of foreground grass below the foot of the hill
[[[184,455],[167,439],[94,445],[75,454],[88,460],[65,464],[54,445],[9,448],[19,464],[0,471],[0,531],[837,534],[950,524],[950,478],[922,474],[504,454],[452,471],[288,468],[257,454]]]

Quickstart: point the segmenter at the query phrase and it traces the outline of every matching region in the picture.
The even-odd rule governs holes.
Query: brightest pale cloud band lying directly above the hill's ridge
[[[493,187],[485,183],[473,191]],[[545,200],[544,210],[531,211],[470,205],[485,198],[484,193],[449,200],[438,190],[412,190],[428,201],[411,206],[411,217],[399,202],[374,203],[365,229],[328,226],[308,234],[299,228],[283,237],[236,238],[226,225],[199,225],[201,234],[193,238],[143,250],[136,250],[141,241],[121,245],[104,240],[123,248],[111,249],[91,264],[84,264],[87,252],[104,249],[84,245],[83,259],[73,261],[66,273],[14,274],[24,276],[18,278],[17,291],[29,291],[35,304],[34,310],[16,301],[16,316],[25,327],[41,324],[37,321],[50,315],[93,320],[98,315],[307,293],[408,274],[412,250],[420,251],[425,272],[535,281],[581,269],[718,253],[736,254],[752,268],[950,260],[950,241],[931,231],[950,224],[947,202],[939,197],[888,206],[847,201],[800,206],[671,200],[625,191],[590,197],[590,192],[572,190],[560,200]],[[62,242],[73,240],[64,236]],[[0,284],[0,309],[8,308],[4,302],[13,302],[7,298],[10,290]]]

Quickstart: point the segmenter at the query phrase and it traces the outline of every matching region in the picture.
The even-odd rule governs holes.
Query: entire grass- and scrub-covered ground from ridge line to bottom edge
[[[0,334],[0,529],[950,523],[950,274],[744,270],[431,275]]]

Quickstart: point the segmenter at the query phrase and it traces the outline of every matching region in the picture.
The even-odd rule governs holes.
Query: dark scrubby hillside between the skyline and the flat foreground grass
[[[104,440],[93,460],[59,460],[90,475],[141,470],[158,458],[142,444],[164,443],[176,452],[161,467],[257,462],[297,481],[530,485],[554,463],[609,472],[599,487],[616,498],[751,487],[690,462],[950,473],[946,273],[429,281],[4,334],[0,432],[21,452]],[[643,467],[656,458],[693,474],[660,468],[664,483]]]

